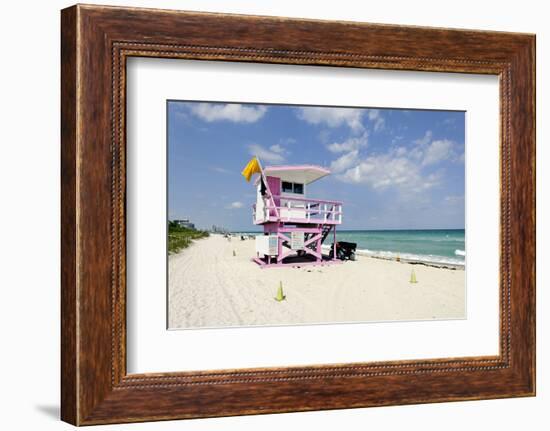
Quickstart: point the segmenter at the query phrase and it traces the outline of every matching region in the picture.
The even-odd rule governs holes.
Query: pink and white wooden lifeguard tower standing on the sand
[[[262,225],[256,236],[256,257],[262,268],[325,265],[336,258],[336,226],[342,223],[342,202],[307,197],[308,186],[330,175],[314,165],[267,166],[255,181],[253,222]],[[333,249],[322,245],[332,236]]]

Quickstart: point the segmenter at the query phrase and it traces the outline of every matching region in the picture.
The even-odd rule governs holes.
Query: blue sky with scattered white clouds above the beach
[[[240,172],[315,164],[308,197],[342,200],[342,229],[464,228],[464,112],[168,102],[168,218],[257,230]]]

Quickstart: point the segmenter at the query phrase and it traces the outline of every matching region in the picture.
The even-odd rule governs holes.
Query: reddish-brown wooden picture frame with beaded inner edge
[[[61,14],[61,417],[75,425],[535,394],[535,36],[82,6]],[[500,354],[130,374],[130,56],[500,77]]]

